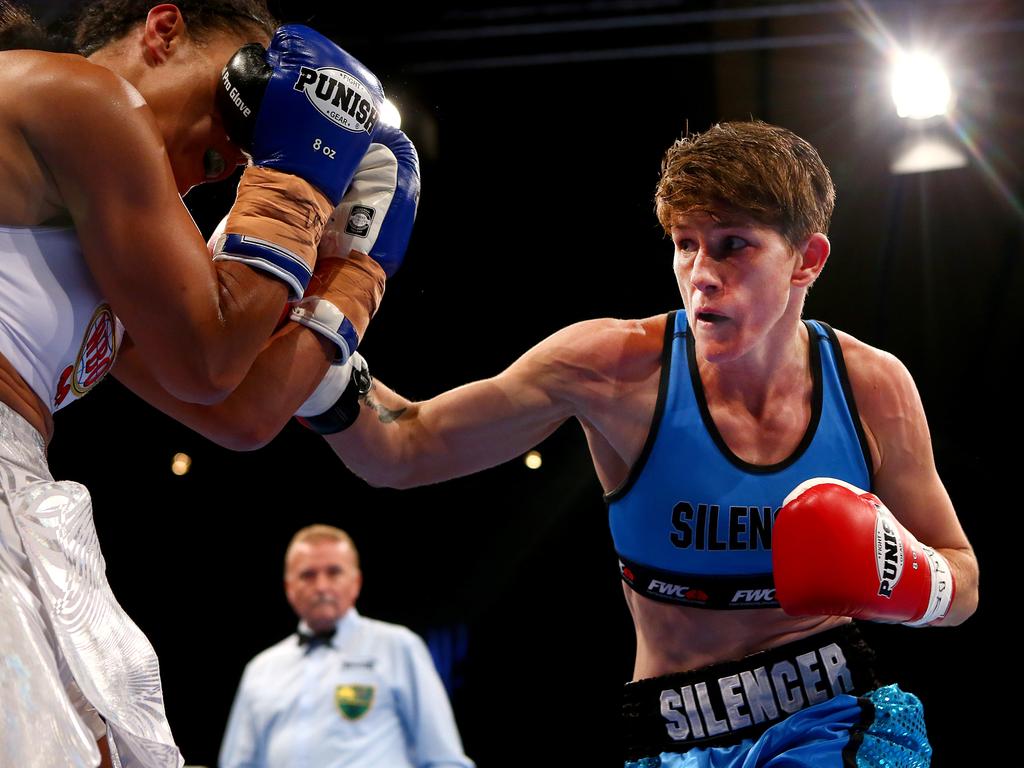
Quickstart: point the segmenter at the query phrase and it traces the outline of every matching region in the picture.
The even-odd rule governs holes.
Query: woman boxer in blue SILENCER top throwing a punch
[[[570,326],[422,402],[374,382],[327,439],[372,484],[408,487],[580,422],[636,628],[632,764],[926,765],[920,702],[874,686],[850,616],[959,624],[977,605],[977,561],[906,369],[801,318],[829,255],[828,172],[790,131],[728,123],[669,150],[656,200],[685,312]],[[818,477],[834,481],[805,485]],[[799,520],[787,552],[807,537],[836,555],[810,602],[776,594],[791,565],[773,560],[778,520]],[[892,591],[914,605],[904,613],[880,597],[890,549],[905,555]]]

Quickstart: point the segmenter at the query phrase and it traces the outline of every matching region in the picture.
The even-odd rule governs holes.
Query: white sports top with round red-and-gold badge
[[[0,353],[51,413],[106,375],[122,335],[74,229],[0,226]]]

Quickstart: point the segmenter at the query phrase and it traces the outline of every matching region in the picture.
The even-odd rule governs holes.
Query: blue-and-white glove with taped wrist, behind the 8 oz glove
[[[406,255],[420,200],[416,147],[382,125],[321,241],[313,280],[291,318],[324,334],[343,364],[355,351]]]

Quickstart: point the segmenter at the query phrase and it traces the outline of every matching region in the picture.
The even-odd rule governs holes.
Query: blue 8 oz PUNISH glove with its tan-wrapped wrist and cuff
[[[305,292],[316,245],[380,130],[377,78],[326,37],[280,28],[241,48],[221,74],[218,105],[246,169],[214,259],[241,261]]]

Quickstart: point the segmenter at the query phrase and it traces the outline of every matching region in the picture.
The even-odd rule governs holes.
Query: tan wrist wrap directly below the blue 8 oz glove
[[[225,232],[266,240],[316,263],[316,248],[334,205],[305,179],[250,166],[242,174]]]

